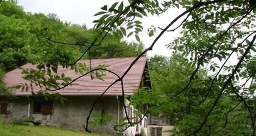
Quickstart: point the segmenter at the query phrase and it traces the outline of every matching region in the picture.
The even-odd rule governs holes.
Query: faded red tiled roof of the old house
[[[117,73],[120,77],[126,71],[126,69],[130,66],[132,61],[135,58],[110,58],[110,59],[99,59],[99,60],[91,60],[91,66],[98,66],[99,64],[107,65],[108,70],[112,70]],[[84,61],[88,64],[88,61]],[[144,67],[146,65],[146,57],[141,57],[135,65],[133,65],[132,69],[127,73],[124,77],[124,92],[126,95],[132,95],[133,91],[140,87],[141,78],[143,76]],[[22,66],[23,68],[35,68],[32,64],[25,64]],[[72,79],[79,77],[79,73],[74,72],[74,70],[63,69],[62,66],[58,67],[58,72],[65,73],[66,77],[70,77]],[[15,69],[5,74],[4,81],[7,86],[13,86],[15,84],[27,83],[29,81],[24,80],[23,75],[21,74],[21,69]],[[73,86],[65,87],[64,89],[57,90],[62,95],[101,95],[105,89],[107,89],[110,84],[112,84],[118,78],[112,73],[107,72],[106,76],[103,77],[104,81],[98,80],[94,78],[91,80],[90,75],[86,75],[85,77],[79,78],[79,80],[75,81]],[[34,92],[37,92],[34,88]],[[30,95],[31,90],[21,89],[14,90],[13,93],[15,95]],[[114,84],[110,89],[107,90],[105,95],[121,95],[121,82],[118,81]]]

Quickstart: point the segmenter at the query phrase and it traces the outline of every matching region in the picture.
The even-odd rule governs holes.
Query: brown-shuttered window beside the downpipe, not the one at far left
[[[35,101],[34,113],[35,114],[52,114],[52,103]]]

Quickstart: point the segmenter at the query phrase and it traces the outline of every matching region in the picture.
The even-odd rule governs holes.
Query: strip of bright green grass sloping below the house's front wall
[[[8,124],[1,121],[0,118],[0,135],[1,136],[104,136],[102,134],[90,134],[80,131],[71,131],[59,127],[47,126],[22,126]]]

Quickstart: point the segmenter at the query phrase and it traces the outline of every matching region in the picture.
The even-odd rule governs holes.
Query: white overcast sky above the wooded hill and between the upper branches
[[[103,5],[110,7],[117,0],[18,0],[18,5],[23,6],[26,12],[31,13],[55,13],[62,21],[68,21],[73,24],[86,24],[88,28],[93,27],[93,20],[97,19],[93,16],[101,10]],[[155,39],[160,30],[157,30],[151,38],[147,34],[147,30],[151,25],[165,27],[168,23],[178,16],[183,10],[171,9],[160,16],[151,16],[140,20],[143,22],[144,30],[140,33],[140,39],[145,47],[149,47]],[[182,20],[182,19],[181,19]],[[178,23],[178,22],[177,22]],[[178,24],[176,24],[178,25]],[[180,35],[180,30],[176,32],[166,32],[162,38],[155,44],[152,51],[148,52],[148,56],[165,55],[171,56],[171,50],[166,48],[166,44],[172,41],[175,37]],[[127,39],[127,41],[136,41],[134,37]]]

